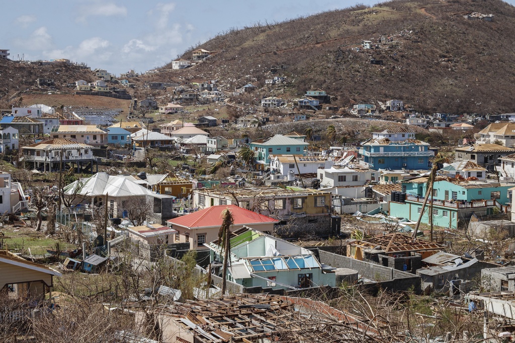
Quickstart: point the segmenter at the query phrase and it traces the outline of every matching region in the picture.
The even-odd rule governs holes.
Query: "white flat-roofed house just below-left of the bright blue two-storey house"
[[[372,179],[373,170],[329,168],[318,171],[320,187],[363,186]]]

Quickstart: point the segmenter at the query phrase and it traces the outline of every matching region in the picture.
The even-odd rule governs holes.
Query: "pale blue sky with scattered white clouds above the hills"
[[[162,66],[231,28],[379,0],[2,1],[0,49],[11,60],[66,58],[119,75]],[[509,0],[515,4],[515,0]]]

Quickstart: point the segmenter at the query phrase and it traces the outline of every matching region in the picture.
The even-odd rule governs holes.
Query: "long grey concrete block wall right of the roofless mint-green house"
[[[390,267],[352,259],[350,257],[333,254],[319,250],[320,262],[337,268],[357,270],[364,278],[376,280],[378,286],[389,291],[407,291],[411,287],[420,292],[421,280],[419,276],[402,272]]]

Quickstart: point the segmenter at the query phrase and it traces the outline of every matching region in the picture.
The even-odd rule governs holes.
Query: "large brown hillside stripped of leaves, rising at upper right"
[[[471,12],[493,21],[465,19]],[[396,98],[430,113],[507,113],[515,112],[514,34],[515,8],[500,0],[398,0],[231,30],[196,47],[217,52],[205,62],[183,70],[170,63],[148,78],[263,86],[270,67],[283,65],[279,74],[291,83],[273,94],[322,88],[340,106]],[[392,41],[353,49],[380,37]]]

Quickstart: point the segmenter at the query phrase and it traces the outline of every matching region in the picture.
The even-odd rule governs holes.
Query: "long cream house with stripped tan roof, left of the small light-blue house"
[[[107,145],[107,132],[99,129],[97,125],[55,125],[50,136],[91,146]]]

